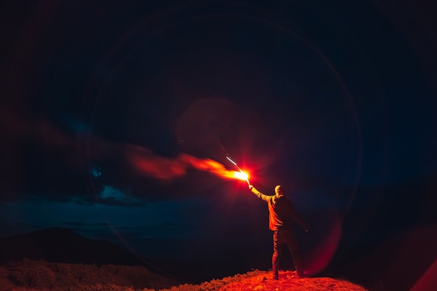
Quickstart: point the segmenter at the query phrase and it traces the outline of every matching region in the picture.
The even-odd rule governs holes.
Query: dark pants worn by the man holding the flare
[[[274,274],[277,274],[279,270],[283,245],[286,245],[291,253],[297,274],[302,275],[302,264],[300,264],[298,255],[299,248],[295,240],[295,235],[288,229],[274,230],[273,232],[272,270],[274,271]]]

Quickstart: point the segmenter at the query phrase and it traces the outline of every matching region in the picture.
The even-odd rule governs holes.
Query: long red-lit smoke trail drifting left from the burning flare
[[[6,110],[8,109],[8,110]],[[188,168],[210,172],[218,177],[238,179],[235,171],[227,170],[225,165],[211,159],[196,158],[180,154],[177,158],[157,156],[149,149],[124,142],[113,142],[102,137],[74,135],[66,133],[43,117],[31,122],[20,116],[13,108],[0,110],[0,129],[9,137],[24,139],[41,148],[53,149],[64,156],[69,166],[82,167],[81,156],[87,151],[87,158],[96,163],[104,163],[118,157],[127,161],[135,174],[154,179],[174,179],[186,174]],[[54,153],[54,151],[52,151]]]

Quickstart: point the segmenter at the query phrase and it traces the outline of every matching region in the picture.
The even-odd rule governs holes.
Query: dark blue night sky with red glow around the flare
[[[68,227],[175,276],[269,269],[267,206],[181,158],[233,170],[227,154],[263,193],[286,189],[314,274],[436,230],[431,6],[9,2],[0,236]]]

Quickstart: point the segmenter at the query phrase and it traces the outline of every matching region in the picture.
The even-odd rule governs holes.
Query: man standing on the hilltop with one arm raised
[[[269,228],[273,231],[273,256],[272,271],[274,280],[278,280],[278,267],[281,261],[282,247],[285,244],[292,255],[297,277],[305,276],[299,258],[299,248],[292,231],[292,220],[302,227],[305,232],[309,232],[306,223],[295,211],[290,200],[284,196],[283,188],[278,185],[274,188],[275,195],[264,195],[249,184],[249,190],[258,198],[267,202],[269,207]]]

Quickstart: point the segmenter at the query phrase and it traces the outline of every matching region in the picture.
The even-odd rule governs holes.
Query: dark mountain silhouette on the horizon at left
[[[0,263],[23,258],[71,264],[143,265],[151,269],[145,260],[110,241],[87,239],[58,227],[0,237]]]

